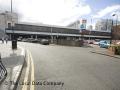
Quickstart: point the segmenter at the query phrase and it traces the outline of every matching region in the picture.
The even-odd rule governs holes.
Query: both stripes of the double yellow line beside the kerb
[[[27,59],[27,68],[26,68],[26,72],[25,72],[25,77],[24,77],[24,83],[28,82],[28,77],[29,77],[29,73],[31,71],[31,79],[30,79],[30,90],[34,90],[34,85],[32,85],[32,81],[35,81],[35,76],[34,76],[34,62],[33,62],[33,58],[31,55],[31,52],[29,50],[27,50],[27,54],[28,54],[28,59]],[[28,85],[23,85],[22,90],[27,90],[27,86]]]

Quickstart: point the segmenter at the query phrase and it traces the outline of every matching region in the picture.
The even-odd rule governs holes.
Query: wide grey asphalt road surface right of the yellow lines
[[[120,90],[120,60],[95,48],[19,45],[32,54],[35,90]]]

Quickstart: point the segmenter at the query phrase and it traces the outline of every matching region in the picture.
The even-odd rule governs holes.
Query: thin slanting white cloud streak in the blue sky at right
[[[113,6],[108,6],[102,10],[100,10],[99,12],[97,12],[96,15],[93,15],[93,18],[102,18],[104,16],[106,16],[107,14],[110,14],[112,12],[115,12],[116,10],[120,10],[120,5],[113,5]]]

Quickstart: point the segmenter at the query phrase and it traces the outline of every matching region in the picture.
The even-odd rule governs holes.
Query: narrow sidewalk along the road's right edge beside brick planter
[[[100,48],[97,45],[93,46],[93,50],[91,51],[92,53],[96,53],[96,54],[101,54],[101,55],[105,55],[105,56],[110,56],[110,57],[114,57],[114,58],[119,58],[120,59],[120,55],[113,55],[111,54],[108,49],[105,48]]]

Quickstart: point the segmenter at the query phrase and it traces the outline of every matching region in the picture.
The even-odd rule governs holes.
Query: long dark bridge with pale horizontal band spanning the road
[[[50,25],[33,25],[33,24],[15,24],[14,27],[8,26],[6,29],[8,35],[13,33],[19,37],[24,38],[60,38],[60,37],[72,37],[72,38],[91,38],[91,39],[110,39],[110,32],[100,32],[100,31],[89,31],[89,30],[79,30],[68,27],[58,27]]]

